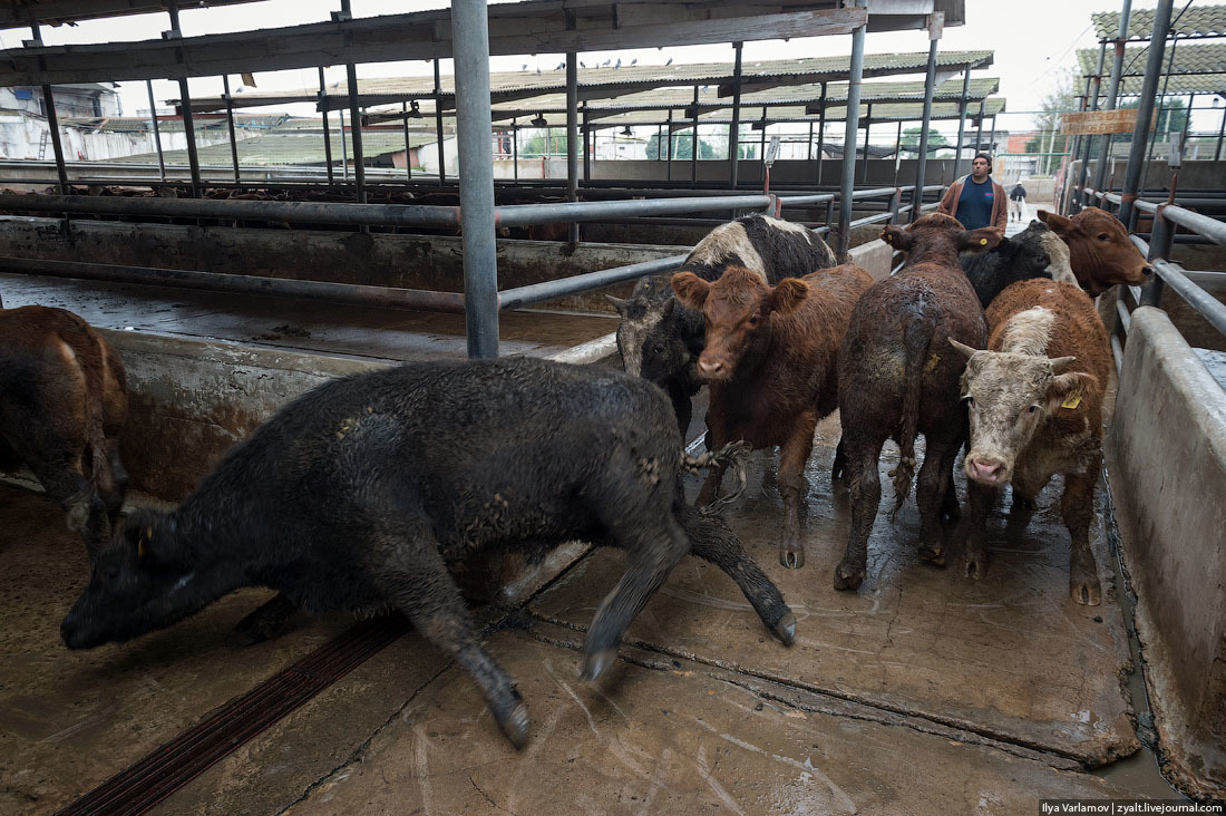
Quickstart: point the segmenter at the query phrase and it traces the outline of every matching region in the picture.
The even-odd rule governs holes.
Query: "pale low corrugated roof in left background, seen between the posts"
[[[332,130],[329,134],[332,146],[332,162],[341,161],[341,135]],[[411,147],[434,144],[436,139],[433,134],[409,134]],[[326,153],[324,152],[324,134],[320,133],[272,133],[261,134],[250,139],[242,139],[238,145],[239,164],[324,164]],[[353,145],[351,137],[346,136],[346,151],[352,160]],[[362,155],[367,160],[376,156],[398,153],[405,150],[405,134],[401,131],[362,131]],[[196,150],[201,164],[215,164],[229,167],[233,164],[229,142],[219,145],[201,146]],[[186,164],[186,150],[169,150],[163,153],[163,158],[170,164]],[[125,164],[154,164],[157,153],[140,153],[136,156],[124,156],[110,160]]]

